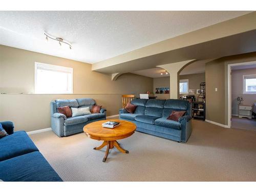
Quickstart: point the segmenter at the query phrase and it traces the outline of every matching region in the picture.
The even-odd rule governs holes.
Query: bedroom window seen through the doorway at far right
[[[256,75],[243,75],[243,94],[256,94]]]

